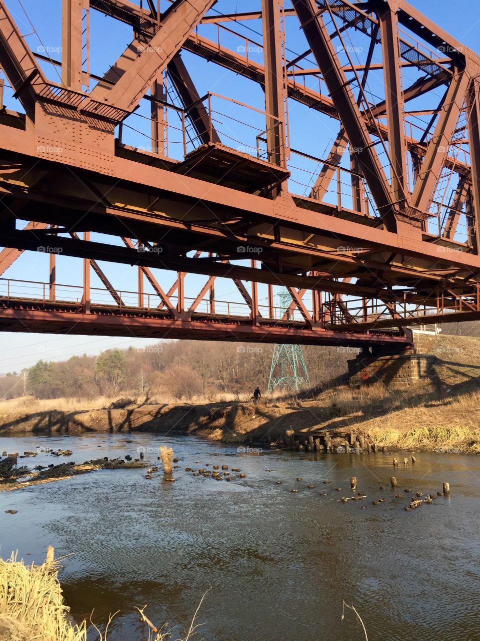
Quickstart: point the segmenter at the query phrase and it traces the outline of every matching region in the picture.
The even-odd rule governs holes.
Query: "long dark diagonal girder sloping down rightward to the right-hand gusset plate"
[[[356,158],[362,167],[372,197],[387,229],[395,230],[394,204],[399,200],[392,193],[380,159],[372,146],[367,125],[358,108],[349,81],[345,76],[339,58],[332,45],[323,18],[318,15],[314,0],[292,0],[308,44],[322,72],[323,79],[332,96],[340,121],[352,147],[356,147]],[[406,200],[406,194],[402,194]]]

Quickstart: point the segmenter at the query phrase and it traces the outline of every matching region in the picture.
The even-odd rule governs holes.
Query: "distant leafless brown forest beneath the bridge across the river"
[[[310,387],[325,385],[347,369],[358,349],[306,345],[303,355]],[[21,372],[0,376],[0,399],[33,395],[38,399],[93,399],[119,394],[150,397],[164,394],[190,400],[219,393],[263,394],[273,345],[178,340],[141,349],[108,349],[99,356],[73,356],[65,361],[39,360]]]

